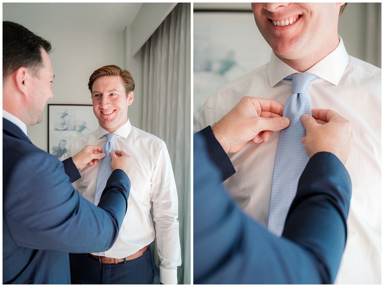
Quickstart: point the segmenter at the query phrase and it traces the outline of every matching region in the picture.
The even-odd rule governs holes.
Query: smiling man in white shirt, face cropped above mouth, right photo
[[[205,102],[197,130],[214,124],[244,96],[284,104],[297,72],[318,76],[306,95],[312,108],[337,111],[354,139],[346,162],[352,180],[348,239],[336,284],[381,283],[381,69],[349,56],[337,25],[344,3],[252,3],[256,24],[271,46],[270,62],[224,85]],[[279,132],[232,154],[231,195],[267,225]]]

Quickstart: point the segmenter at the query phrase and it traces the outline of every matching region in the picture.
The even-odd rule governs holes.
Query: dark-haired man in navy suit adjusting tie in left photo
[[[38,149],[27,126],[52,98],[51,45],[3,22],[3,284],[70,284],[68,252],[111,248],[127,209],[130,156],[111,153],[98,207],[73,189],[78,169],[105,156],[96,146],[60,162]]]

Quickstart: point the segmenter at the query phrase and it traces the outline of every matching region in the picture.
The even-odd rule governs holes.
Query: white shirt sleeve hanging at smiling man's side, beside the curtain
[[[166,144],[157,149],[152,173],[151,200],[156,226],[157,253],[160,257],[160,282],[177,284],[181,265],[177,190]]]

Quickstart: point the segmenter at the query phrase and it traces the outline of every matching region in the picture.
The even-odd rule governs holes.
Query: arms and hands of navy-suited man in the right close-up
[[[228,152],[289,124],[273,100],[243,97],[194,135],[194,283],[332,284],[346,244],[351,179],[350,123],[333,110],[301,120],[310,160],[278,238],[245,215],[220,183],[235,173]],[[260,115],[263,115],[261,117]],[[269,136],[268,136],[269,135]],[[257,176],[257,175],[255,175]]]

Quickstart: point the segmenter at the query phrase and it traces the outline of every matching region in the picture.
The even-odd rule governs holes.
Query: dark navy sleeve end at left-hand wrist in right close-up
[[[222,182],[228,179],[231,175],[235,174],[235,168],[231,160],[225,153],[221,144],[217,141],[211,126],[207,126],[196,134],[200,134],[207,144],[208,154],[212,162],[217,166],[221,173]]]

